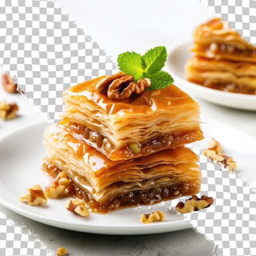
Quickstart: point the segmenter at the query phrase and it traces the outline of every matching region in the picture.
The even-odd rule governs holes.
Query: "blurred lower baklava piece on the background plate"
[[[256,65],[195,56],[185,65],[188,81],[209,88],[256,94]]]

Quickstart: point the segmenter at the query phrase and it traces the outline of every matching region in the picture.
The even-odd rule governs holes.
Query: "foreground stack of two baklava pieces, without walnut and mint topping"
[[[203,139],[198,103],[173,84],[110,99],[95,90],[103,78],[65,90],[61,121],[45,130],[43,171],[65,171],[70,193],[97,213],[200,192],[198,156],[184,146]]]

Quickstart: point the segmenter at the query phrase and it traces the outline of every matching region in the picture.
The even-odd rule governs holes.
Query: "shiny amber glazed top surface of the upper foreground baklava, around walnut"
[[[73,101],[74,99],[80,101],[82,105],[90,104],[90,106],[104,111],[114,121],[127,119],[130,116],[150,115],[156,110],[175,111],[175,108],[184,106],[198,108],[198,103],[174,84],[163,89],[144,90],[141,94],[132,94],[129,98],[121,101],[109,99],[107,95],[95,90],[95,85],[104,77],[106,76],[100,76],[66,89],[63,100],[66,104],[72,101],[71,104],[74,105],[76,103]]]

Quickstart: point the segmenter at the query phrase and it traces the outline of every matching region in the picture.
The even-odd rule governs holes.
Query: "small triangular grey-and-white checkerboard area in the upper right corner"
[[[256,46],[256,0],[200,0],[216,16]]]

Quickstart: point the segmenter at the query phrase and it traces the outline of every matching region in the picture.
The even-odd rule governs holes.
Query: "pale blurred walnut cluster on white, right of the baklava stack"
[[[209,148],[204,150],[204,155],[208,155],[212,161],[216,160],[216,162],[223,164],[225,168],[228,167],[229,171],[233,171],[236,168],[236,162],[233,161],[232,157],[222,153],[222,146],[215,139],[211,139]]]

